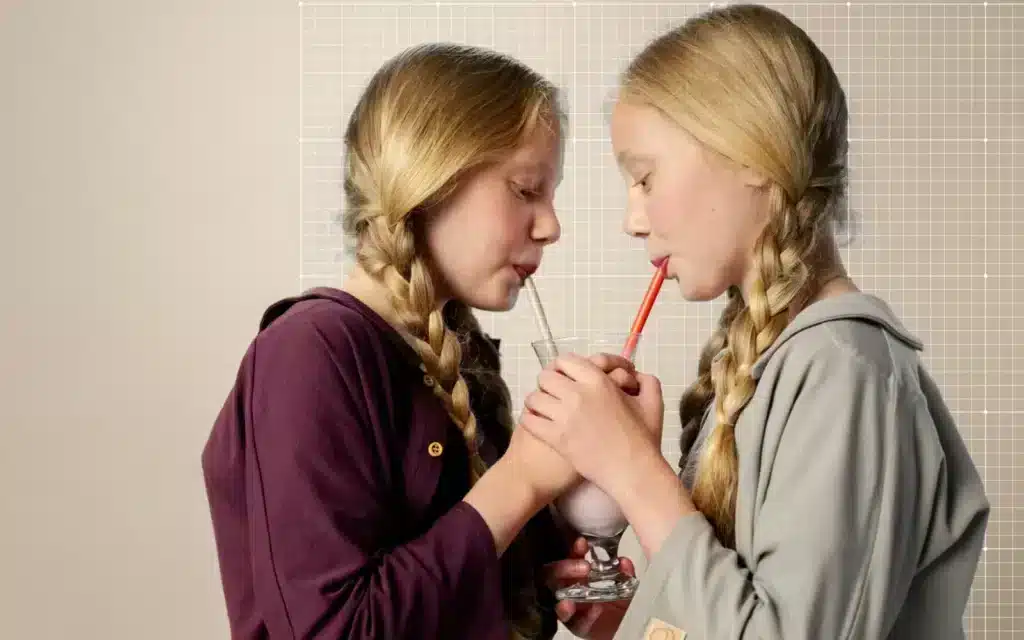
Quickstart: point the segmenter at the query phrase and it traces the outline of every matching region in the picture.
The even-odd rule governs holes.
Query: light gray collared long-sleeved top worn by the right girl
[[[615,639],[964,638],[989,502],[921,349],[870,295],[800,312],[736,424],[736,550],[680,518]]]

